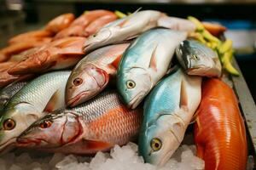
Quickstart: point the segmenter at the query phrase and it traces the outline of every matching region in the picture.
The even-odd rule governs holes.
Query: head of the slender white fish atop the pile
[[[84,42],[84,51],[90,52],[93,49],[100,48],[104,45],[107,45],[110,40],[113,38],[113,32],[116,30],[115,27],[103,27],[100,31],[97,31],[94,35],[91,35]]]

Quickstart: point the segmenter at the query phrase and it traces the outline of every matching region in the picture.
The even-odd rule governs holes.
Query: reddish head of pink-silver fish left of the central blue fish
[[[108,79],[108,72],[96,65],[89,64],[76,69],[67,81],[67,105],[79,105],[99,94],[107,86]]]

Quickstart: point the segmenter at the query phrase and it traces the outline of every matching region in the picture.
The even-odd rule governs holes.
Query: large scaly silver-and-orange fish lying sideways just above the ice
[[[137,136],[142,112],[129,110],[115,92],[44,116],[17,139],[19,146],[44,151],[92,154],[114,144],[126,144]]]

